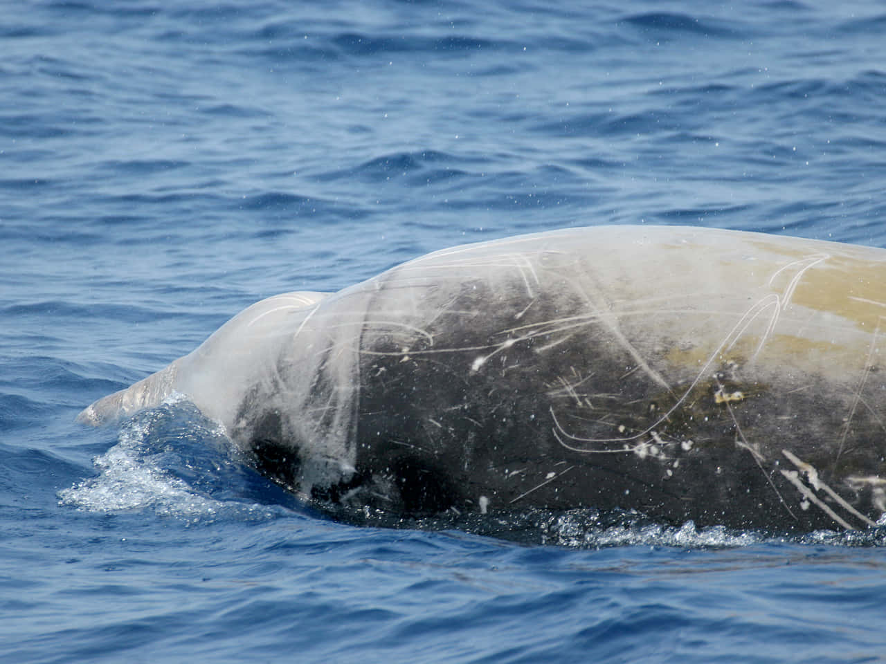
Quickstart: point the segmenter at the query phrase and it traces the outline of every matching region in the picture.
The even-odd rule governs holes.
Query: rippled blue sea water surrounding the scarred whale
[[[821,0],[0,3],[0,661],[886,660],[882,529],[358,528],[186,402],[74,423],[261,297],[457,243],[886,247],[884,30]]]

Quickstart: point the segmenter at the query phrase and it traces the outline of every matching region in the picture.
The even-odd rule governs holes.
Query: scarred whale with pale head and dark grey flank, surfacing
[[[884,285],[886,251],[838,243],[525,235],[264,300],[81,419],[183,392],[344,513],[861,529],[886,512]]]

